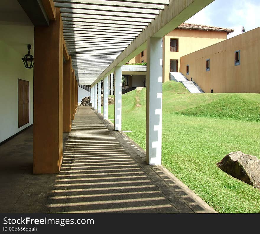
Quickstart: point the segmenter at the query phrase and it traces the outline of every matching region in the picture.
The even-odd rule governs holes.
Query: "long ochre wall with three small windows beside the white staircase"
[[[260,93],[260,27],[181,57],[181,69],[209,93]],[[235,51],[240,65],[235,66]],[[206,59],[210,70],[206,72]],[[189,75],[186,65],[189,64]]]

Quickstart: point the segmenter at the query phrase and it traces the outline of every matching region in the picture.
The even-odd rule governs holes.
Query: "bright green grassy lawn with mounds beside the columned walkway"
[[[122,105],[122,130],[145,149],[146,89],[124,94]],[[163,83],[163,166],[217,212],[260,212],[260,191],[216,166],[231,151],[260,158],[259,133],[260,94],[190,94]]]

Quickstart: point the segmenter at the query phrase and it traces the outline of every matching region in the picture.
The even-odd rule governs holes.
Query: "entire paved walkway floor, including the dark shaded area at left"
[[[0,146],[0,212],[212,213],[163,166],[90,106],[79,106],[64,134],[58,175],[32,175],[32,128]]]

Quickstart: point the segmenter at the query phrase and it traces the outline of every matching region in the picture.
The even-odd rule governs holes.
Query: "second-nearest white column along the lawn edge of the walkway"
[[[121,67],[115,67],[115,131],[121,131],[121,125],[122,125],[122,69]]]

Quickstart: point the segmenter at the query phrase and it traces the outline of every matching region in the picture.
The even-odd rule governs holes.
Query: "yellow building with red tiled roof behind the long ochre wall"
[[[170,80],[170,72],[180,70],[180,59],[186,54],[227,39],[233,29],[183,23],[163,37],[163,82]],[[146,62],[146,50],[129,63]]]

